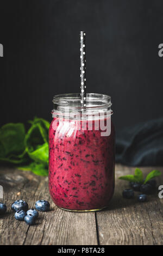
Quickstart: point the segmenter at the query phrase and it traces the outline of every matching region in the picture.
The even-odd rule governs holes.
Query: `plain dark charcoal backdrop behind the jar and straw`
[[[112,97],[117,130],[162,115],[163,2],[1,0],[1,125],[51,120],[52,97],[79,92],[79,31],[87,91]]]

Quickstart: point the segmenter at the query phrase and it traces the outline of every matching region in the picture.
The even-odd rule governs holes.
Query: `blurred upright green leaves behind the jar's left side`
[[[0,129],[0,161],[25,163],[30,159],[48,164],[49,122],[35,117],[27,134],[22,123],[6,124]]]

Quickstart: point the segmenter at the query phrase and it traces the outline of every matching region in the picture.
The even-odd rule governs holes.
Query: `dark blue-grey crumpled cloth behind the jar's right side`
[[[163,118],[117,132],[116,162],[129,166],[163,166]]]

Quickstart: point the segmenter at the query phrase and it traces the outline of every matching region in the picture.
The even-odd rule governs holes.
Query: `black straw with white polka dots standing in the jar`
[[[85,50],[85,32],[80,31],[80,88],[81,104],[86,107],[86,50]]]

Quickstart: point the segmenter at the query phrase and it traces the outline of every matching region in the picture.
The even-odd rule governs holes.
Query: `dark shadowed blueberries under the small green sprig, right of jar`
[[[147,194],[152,194],[154,188],[156,187],[156,180],[149,180],[146,184],[141,184],[139,182],[130,182],[129,185],[131,188],[123,190],[122,196],[128,199],[133,198],[134,191],[139,191],[141,193],[138,194],[137,200],[139,202],[146,202]]]

